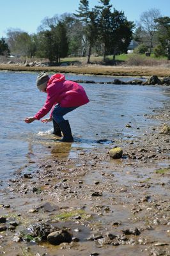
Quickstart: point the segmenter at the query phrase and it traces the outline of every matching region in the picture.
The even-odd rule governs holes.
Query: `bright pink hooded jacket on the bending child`
[[[34,116],[40,120],[49,113],[50,109],[54,109],[56,104],[61,107],[79,107],[89,102],[88,96],[84,88],[73,81],[65,80],[63,74],[55,74],[50,77],[47,84],[47,99],[43,107]],[[50,117],[52,116],[52,111]]]

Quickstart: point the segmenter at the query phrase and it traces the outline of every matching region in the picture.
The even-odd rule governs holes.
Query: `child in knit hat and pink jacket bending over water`
[[[72,142],[73,136],[70,124],[63,116],[89,102],[84,88],[73,81],[65,80],[63,74],[55,74],[49,77],[46,73],[38,74],[36,86],[40,92],[47,93],[47,99],[42,109],[35,116],[27,117],[24,121],[32,123],[35,120],[40,120],[52,109],[50,117],[43,119],[42,122],[53,121],[54,134],[61,136],[62,131],[63,139],[61,141]]]

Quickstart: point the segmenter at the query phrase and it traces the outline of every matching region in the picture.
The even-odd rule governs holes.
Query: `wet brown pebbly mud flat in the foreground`
[[[170,255],[170,143],[169,134],[161,133],[169,114],[166,106],[146,116],[160,126],[140,138],[99,141],[96,148],[79,148],[74,158],[42,159],[34,172],[29,165],[13,173],[7,186],[2,182],[0,253]],[[123,148],[121,159],[109,156],[115,146]],[[64,152],[68,144],[61,147]],[[32,227],[45,223],[66,230],[72,241],[35,239],[40,232],[35,236]]]

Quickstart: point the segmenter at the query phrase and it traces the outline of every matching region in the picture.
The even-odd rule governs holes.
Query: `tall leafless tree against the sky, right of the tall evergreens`
[[[139,24],[148,35],[150,52],[153,48],[153,36],[155,35],[155,31],[157,29],[157,22],[155,22],[155,19],[158,19],[159,17],[161,17],[160,10],[156,8],[143,12],[140,17]]]

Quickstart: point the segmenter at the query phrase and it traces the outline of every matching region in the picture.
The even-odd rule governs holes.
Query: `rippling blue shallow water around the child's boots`
[[[1,177],[9,177],[14,170],[43,157],[74,157],[81,148],[98,147],[97,140],[139,136],[157,122],[146,119],[144,114],[161,108],[167,99],[163,88],[156,86],[82,84],[90,102],[66,115],[75,142],[63,145],[55,141],[52,123],[24,122],[27,116],[35,115],[46,99],[45,93],[36,89],[36,76],[37,73],[0,72]],[[66,79],[73,80],[112,81],[114,78],[66,74]],[[129,79],[132,78],[121,80]],[[131,123],[131,129],[125,127],[127,123]]]

